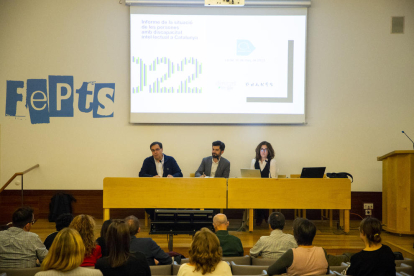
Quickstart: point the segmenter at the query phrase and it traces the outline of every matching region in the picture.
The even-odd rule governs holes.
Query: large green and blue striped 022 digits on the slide
[[[139,86],[132,87],[132,93],[143,92],[143,89],[148,86],[149,93],[202,93],[201,87],[191,87],[190,83],[197,79],[202,73],[202,64],[193,57],[184,58],[178,63],[172,62],[166,57],[157,57],[150,64],[146,64],[141,58],[132,56],[132,63],[139,66]],[[167,65],[167,71],[161,75],[152,83],[148,84],[147,78],[149,72],[156,72],[159,70],[159,65]],[[165,67],[165,66],[164,66]],[[193,71],[180,81],[178,87],[167,87],[163,85],[163,82],[173,77],[176,72],[183,72],[187,67],[193,69]],[[188,70],[188,69],[187,69]]]

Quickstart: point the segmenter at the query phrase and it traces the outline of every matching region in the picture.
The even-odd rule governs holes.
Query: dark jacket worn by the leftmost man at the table
[[[183,177],[181,169],[174,157],[164,154],[164,173],[162,177],[167,177],[169,174],[174,177]],[[157,175],[157,167],[155,167],[154,157],[150,156],[145,158],[141,171],[139,172],[139,177],[153,177],[155,175]]]

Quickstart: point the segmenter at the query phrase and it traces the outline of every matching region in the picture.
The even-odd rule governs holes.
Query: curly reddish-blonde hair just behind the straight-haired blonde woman
[[[85,245],[85,255],[92,255],[95,249],[95,221],[89,215],[76,216],[69,225],[70,228],[77,230],[82,237],[83,244]]]

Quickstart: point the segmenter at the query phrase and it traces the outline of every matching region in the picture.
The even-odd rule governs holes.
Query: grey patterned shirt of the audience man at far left
[[[47,253],[35,233],[17,227],[0,231],[0,268],[36,267],[36,260],[42,262]]]

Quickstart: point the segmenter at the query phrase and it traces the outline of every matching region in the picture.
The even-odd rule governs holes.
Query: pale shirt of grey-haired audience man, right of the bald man
[[[273,230],[270,236],[263,236],[250,249],[250,256],[279,259],[287,250],[298,247],[295,238],[280,229]]]

